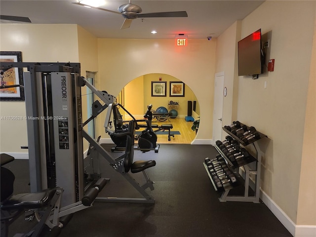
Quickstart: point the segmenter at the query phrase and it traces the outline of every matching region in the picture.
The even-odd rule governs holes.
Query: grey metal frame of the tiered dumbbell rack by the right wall
[[[241,124],[244,125],[244,124]],[[249,127],[248,127],[249,128]],[[257,141],[262,139],[263,137],[267,137],[267,135],[263,133],[259,133],[260,138],[253,140],[249,144],[245,144],[239,137],[231,133],[229,130],[227,130],[225,127],[223,127],[223,130],[228,133],[231,137],[236,140],[239,145],[242,145],[243,147],[246,147],[248,145],[252,145],[255,149],[255,157],[250,156],[247,159],[238,159],[237,164],[233,164],[229,158],[225,156],[225,154],[221,151],[221,149],[215,145],[216,150],[219,152],[219,154],[226,160],[227,164],[234,170],[234,173],[237,177],[239,177],[242,180],[242,177],[239,175],[240,168],[243,167],[244,172],[244,194],[243,196],[229,196],[229,192],[231,189],[225,190],[222,193],[222,196],[219,198],[221,202],[225,201],[244,201],[244,202],[255,202],[259,203],[259,196],[260,196],[260,173],[261,173],[261,151],[259,149],[259,146],[257,144]],[[250,166],[251,163],[254,162],[254,168]],[[250,175],[255,175],[254,180],[254,195],[249,196],[248,191],[250,187]],[[240,180],[238,179],[238,180]]]

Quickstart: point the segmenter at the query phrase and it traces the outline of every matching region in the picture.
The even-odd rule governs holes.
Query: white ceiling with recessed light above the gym
[[[185,34],[189,39],[218,37],[236,20],[242,20],[262,0],[132,0],[143,13],[187,11],[185,18],[138,18],[120,30],[124,18],[115,13],[72,4],[78,0],[0,0],[0,14],[29,17],[26,24],[78,24],[98,38],[173,39]],[[100,6],[117,11],[128,0],[106,0]],[[1,24],[9,22],[1,21]],[[13,22],[10,22],[13,23]],[[153,35],[150,32],[156,30]]]

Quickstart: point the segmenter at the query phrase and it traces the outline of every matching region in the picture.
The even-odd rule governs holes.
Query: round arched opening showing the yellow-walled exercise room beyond
[[[162,85],[162,91],[158,93],[153,92],[155,85]],[[172,86],[179,85],[179,94],[173,93]],[[188,111],[188,101],[192,102],[192,109]],[[124,86],[118,95],[118,103],[122,104],[125,109],[129,111],[136,119],[143,119],[147,111],[147,106],[152,104],[153,110],[158,107],[165,107],[168,112],[171,109],[177,111],[177,116],[173,118],[168,117],[165,121],[159,121],[157,118],[153,119],[153,124],[160,126],[161,124],[172,124],[171,131],[174,133],[173,137],[157,132],[158,143],[177,143],[177,144],[191,144],[196,137],[196,131],[192,130],[193,121],[199,119],[199,104],[197,97],[189,86],[184,84],[180,79],[172,77],[167,74],[153,73],[146,74],[131,80]],[[124,113],[124,119],[128,120],[130,117]],[[188,117],[188,112],[191,112]]]

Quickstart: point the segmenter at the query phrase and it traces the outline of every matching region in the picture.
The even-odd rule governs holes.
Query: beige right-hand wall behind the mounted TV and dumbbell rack
[[[261,142],[265,151],[261,188],[294,223],[297,223],[304,131],[308,130],[304,124],[315,3],[266,1],[242,20],[241,26],[241,38],[259,28],[263,34],[272,31],[270,58],[276,60],[275,70],[256,80],[239,77],[237,119],[268,136]],[[314,127],[315,123],[309,129]],[[315,179],[310,185],[315,187]],[[315,195],[311,204],[315,206]],[[314,211],[305,215],[315,215]],[[315,218],[307,219],[304,222],[307,225],[316,224]]]

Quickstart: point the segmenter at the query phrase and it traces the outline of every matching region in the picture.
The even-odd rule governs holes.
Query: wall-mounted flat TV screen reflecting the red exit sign
[[[238,41],[238,76],[263,73],[261,29]]]

